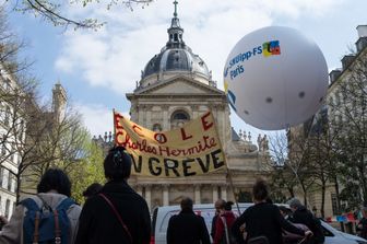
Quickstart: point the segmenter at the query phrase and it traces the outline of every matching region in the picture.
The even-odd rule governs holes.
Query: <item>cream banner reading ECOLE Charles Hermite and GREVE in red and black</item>
[[[215,120],[209,112],[170,131],[152,131],[114,112],[115,143],[131,154],[132,174],[182,177],[224,166]]]

